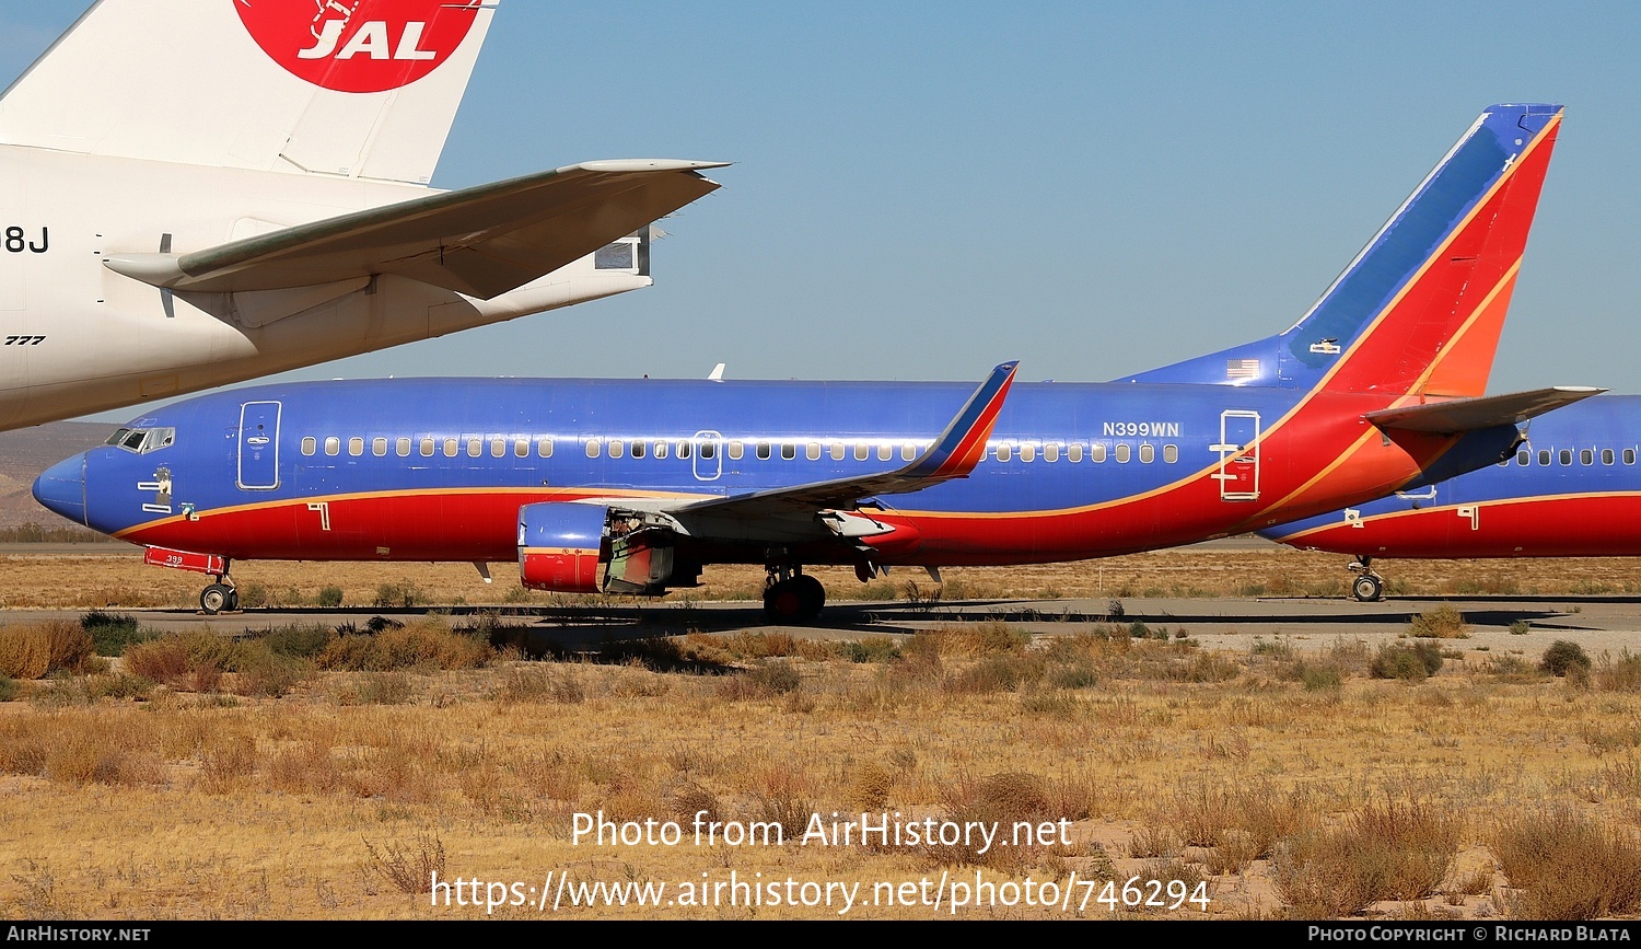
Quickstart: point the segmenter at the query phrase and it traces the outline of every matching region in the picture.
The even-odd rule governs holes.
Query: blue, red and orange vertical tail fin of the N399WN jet
[[[1490,107],[1285,333],[1122,381],[1480,396],[1561,117]]]

